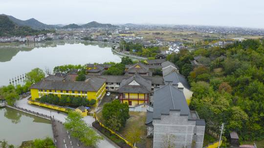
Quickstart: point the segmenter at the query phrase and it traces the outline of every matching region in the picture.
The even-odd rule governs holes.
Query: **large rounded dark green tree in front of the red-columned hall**
[[[129,118],[129,106],[127,103],[114,100],[104,105],[102,115],[103,121],[107,127],[119,130],[122,126],[125,127],[126,121]],[[111,124],[113,122],[116,123],[114,123],[115,126],[112,127]]]

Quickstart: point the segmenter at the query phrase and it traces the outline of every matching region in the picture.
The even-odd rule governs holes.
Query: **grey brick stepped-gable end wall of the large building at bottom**
[[[188,116],[180,116],[180,111],[170,111],[169,115],[161,115],[160,120],[153,120],[153,125],[153,148],[163,147],[167,134],[175,135],[172,141],[176,148],[191,148],[193,140],[198,142],[196,148],[202,148],[205,127],[196,127],[196,121],[188,120]],[[195,132],[199,134],[195,135]]]

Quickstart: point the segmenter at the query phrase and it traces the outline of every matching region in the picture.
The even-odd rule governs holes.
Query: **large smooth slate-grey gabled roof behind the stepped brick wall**
[[[183,92],[172,85],[154,91],[153,119],[160,119],[161,114],[169,114],[170,110],[180,111],[181,115],[189,115],[190,109]]]

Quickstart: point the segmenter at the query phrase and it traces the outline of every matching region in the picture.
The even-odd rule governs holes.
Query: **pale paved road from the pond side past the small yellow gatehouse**
[[[42,108],[42,107],[38,107],[35,105],[30,105],[27,103],[27,98],[18,100],[15,104],[18,107],[27,109],[27,110],[31,110],[31,111],[36,111],[39,113],[43,113],[45,115],[51,115],[54,116],[55,120],[59,120],[61,122],[65,122],[65,119],[67,117],[66,113],[58,113],[57,111],[54,110],[49,110],[46,108]],[[91,116],[86,116],[83,118],[85,120],[85,122],[91,127],[92,122],[95,121],[95,119]],[[99,134],[99,133],[98,133]],[[101,134],[100,134],[101,135]],[[107,138],[105,138],[104,140],[101,140],[97,146],[97,148],[118,148],[116,145],[112,144],[112,142],[108,141]]]

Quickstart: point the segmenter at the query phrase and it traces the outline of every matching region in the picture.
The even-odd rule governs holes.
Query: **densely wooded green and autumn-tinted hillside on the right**
[[[203,66],[191,65],[194,57]],[[198,57],[198,58],[197,58]],[[169,55],[194,92],[190,108],[205,119],[206,128],[240,140],[264,139],[264,40],[244,40],[226,48],[212,47]]]

